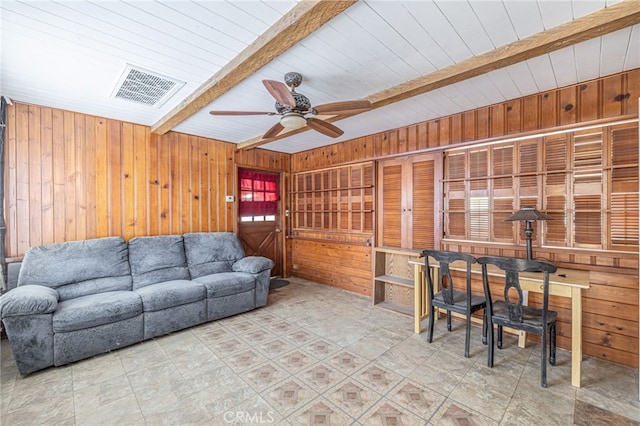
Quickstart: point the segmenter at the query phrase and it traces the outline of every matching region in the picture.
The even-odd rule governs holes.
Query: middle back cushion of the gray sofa
[[[132,238],[129,263],[134,290],[165,281],[191,279],[182,235]]]

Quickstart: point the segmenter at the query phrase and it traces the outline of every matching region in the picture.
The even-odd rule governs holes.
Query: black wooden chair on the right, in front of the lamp
[[[549,273],[556,271],[550,263],[537,260],[516,259],[509,257],[481,257],[482,285],[487,299],[487,323],[489,333],[489,357],[487,365],[493,367],[493,324],[498,326],[498,349],[502,349],[502,327],[535,333],[541,337],[542,357],[540,368],[540,384],[547,387],[547,332],[549,332],[549,363],[556,363],[556,318],[557,312],[549,310]],[[505,273],[504,300],[494,301],[491,297],[487,265],[495,265]],[[543,278],[542,309],[523,306],[521,272],[539,272]]]

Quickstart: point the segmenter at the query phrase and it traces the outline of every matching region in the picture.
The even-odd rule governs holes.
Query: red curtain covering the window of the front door
[[[267,216],[278,212],[278,174],[240,169],[240,216]]]

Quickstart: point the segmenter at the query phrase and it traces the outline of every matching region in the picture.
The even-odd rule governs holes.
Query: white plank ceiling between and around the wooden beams
[[[633,0],[632,0],[633,1]],[[263,79],[304,77],[313,105],[364,99],[617,0],[359,1],[190,118],[175,131],[240,143],[273,116]],[[0,94],[152,126],[239,55],[296,1],[0,2]],[[127,64],[185,85],[160,107],[112,97]],[[306,131],[263,145],[295,153],[640,67],[640,25],[334,122],[337,139]]]

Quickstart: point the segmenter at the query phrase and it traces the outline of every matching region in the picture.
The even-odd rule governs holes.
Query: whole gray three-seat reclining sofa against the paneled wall
[[[273,266],[229,232],[32,247],[0,319],[25,375],[264,306]]]

